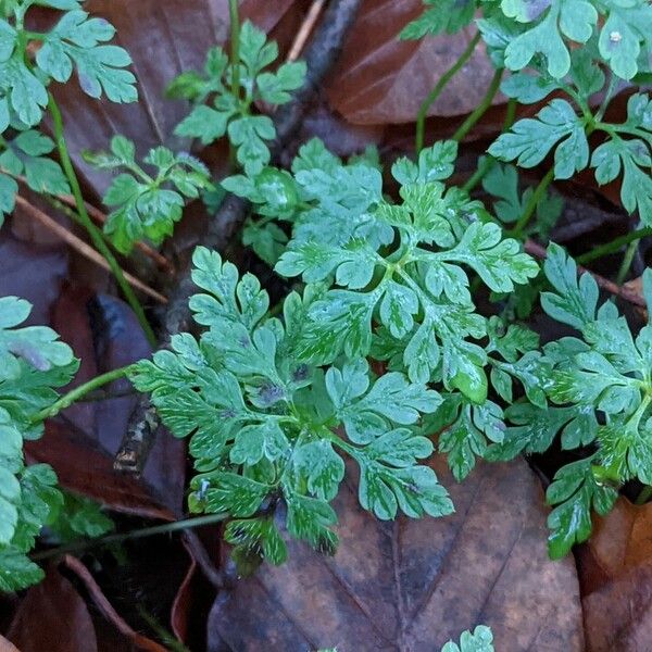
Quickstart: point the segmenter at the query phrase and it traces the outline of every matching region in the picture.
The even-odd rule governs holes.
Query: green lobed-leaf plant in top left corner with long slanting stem
[[[32,32],[26,28],[25,20],[34,7],[51,8],[63,14],[49,32]],[[82,90],[92,98],[105,96],[112,102],[138,99],[136,78],[125,70],[131,63],[128,53],[106,45],[115,28],[108,21],[90,17],[80,7],[80,0],[8,0],[2,4],[5,17],[0,18],[0,224],[14,209],[16,177],[23,174],[37,192],[72,191],[76,203],[73,216],[109,263],[153,343],[155,337],[142,306],[101,231],[88,216],[65,142],[61,111],[49,91],[52,83],[66,83],[76,72]],[[38,47],[30,48],[33,45]],[[43,156],[52,152],[52,140],[34,129],[41,124],[45,111],[52,117],[59,163]]]

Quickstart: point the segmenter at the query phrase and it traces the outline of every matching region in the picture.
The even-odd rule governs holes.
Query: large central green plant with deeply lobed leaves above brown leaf
[[[522,344],[471,341],[485,338],[489,323],[475,312],[462,265],[496,291],[525,283],[538,265],[501,240],[479,202],[438,180],[450,176],[455,155],[456,145],[442,142],[417,164],[397,162],[397,205],[384,200],[377,168],[343,165],[319,141],[304,146],[286,177],[302,201],[287,216],[292,238],[276,269],[308,285],[285,300],[284,319],[266,316],[269,300],[255,277],[238,280],[230,263],[199,249],[193,280],[204,293],[190,306],[208,330],[199,341],[176,336],[172,351],[130,374],[175,435],[192,435],[200,473],[190,506],[234,517],[225,537],[240,561],[284,561],[273,519],[281,499],[291,535],[334,550],[328,502],[344,475],[341,453],[360,466],[361,505],[379,518],[399,509],[413,517],[450,513],[435,474],[417,463],[432,444],[410,427],[440,412],[440,392],[464,406],[482,443],[502,440],[485,367],[496,350],[504,376],[527,386],[527,374],[510,364]],[[260,197],[264,209],[269,199]],[[367,359],[388,361],[388,371],[373,374]],[[466,443],[440,447],[466,475],[473,462],[459,462]]]

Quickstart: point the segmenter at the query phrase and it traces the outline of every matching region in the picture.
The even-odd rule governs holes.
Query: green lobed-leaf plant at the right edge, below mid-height
[[[490,450],[494,460],[522,451],[547,450],[557,432],[566,450],[597,450],[563,466],[548,489],[548,502],[556,505],[549,517],[550,554],[563,556],[591,532],[591,510],[605,514],[617,497],[617,487],[637,478],[652,484],[652,401],[649,364],[650,325],[635,338],[613,303],[598,306],[599,290],[556,244],[551,244],[543,265],[552,292],[541,304],[554,319],[581,333],[543,347],[541,369],[552,405],[515,404],[507,418],[516,424],[501,444]],[[643,276],[645,297],[652,277]],[[597,444],[597,447],[595,447]]]

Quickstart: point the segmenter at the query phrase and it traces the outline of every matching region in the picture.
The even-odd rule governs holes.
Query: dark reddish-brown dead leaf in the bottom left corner
[[[49,567],[42,582],[27,591],[8,636],[21,652],[98,650],[86,603],[54,565]]]

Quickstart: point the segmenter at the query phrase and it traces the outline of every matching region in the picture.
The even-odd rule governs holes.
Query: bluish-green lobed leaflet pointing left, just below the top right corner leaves
[[[537,114],[537,120],[519,120],[489,148],[502,161],[517,160],[522,167],[534,167],[555,148],[554,176],[567,179],[589,164],[589,143],[582,118],[560,98],[551,100]]]

